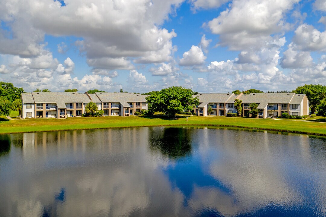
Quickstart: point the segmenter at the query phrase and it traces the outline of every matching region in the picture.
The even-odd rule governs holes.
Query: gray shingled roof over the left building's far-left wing
[[[56,103],[58,108],[66,108],[65,103],[84,102],[91,100],[84,93],[73,92],[33,92],[35,103]]]

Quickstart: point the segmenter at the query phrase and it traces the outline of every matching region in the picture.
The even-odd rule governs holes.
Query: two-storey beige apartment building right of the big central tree
[[[259,109],[259,115],[257,117],[277,117],[282,113],[288,113],[293,116],[309,115],[309,101],[305,94],[295,93],[251,93],[251,94],[198,94],[200,105],[196,108],[195,112],[198,115],[224,115],[227,113],[237,113],[234,108],[235,99],[242,101],[242,116],[251,117],[249,114],[250,104],[257,103]],[[227,98],[229,96],[229,98]],[[226,99],[226,100],[225,100]],[[225,101],[224,101],[225,100]],[[215,113],[215,107],[217,107],[218,101],[218,113]],[[224,102],[223,102],[224,101]],[[223,106],[224,107],[220,107]],[[207,114],[207,108],[210,106],[213,108],[211,114]],[[202,108],[202,109],[200,109]],[[202,110],[202,112],[200,111]],[[198,111],[198,112],[197,112]],[[216,109],[217,112],[217,109]]]

